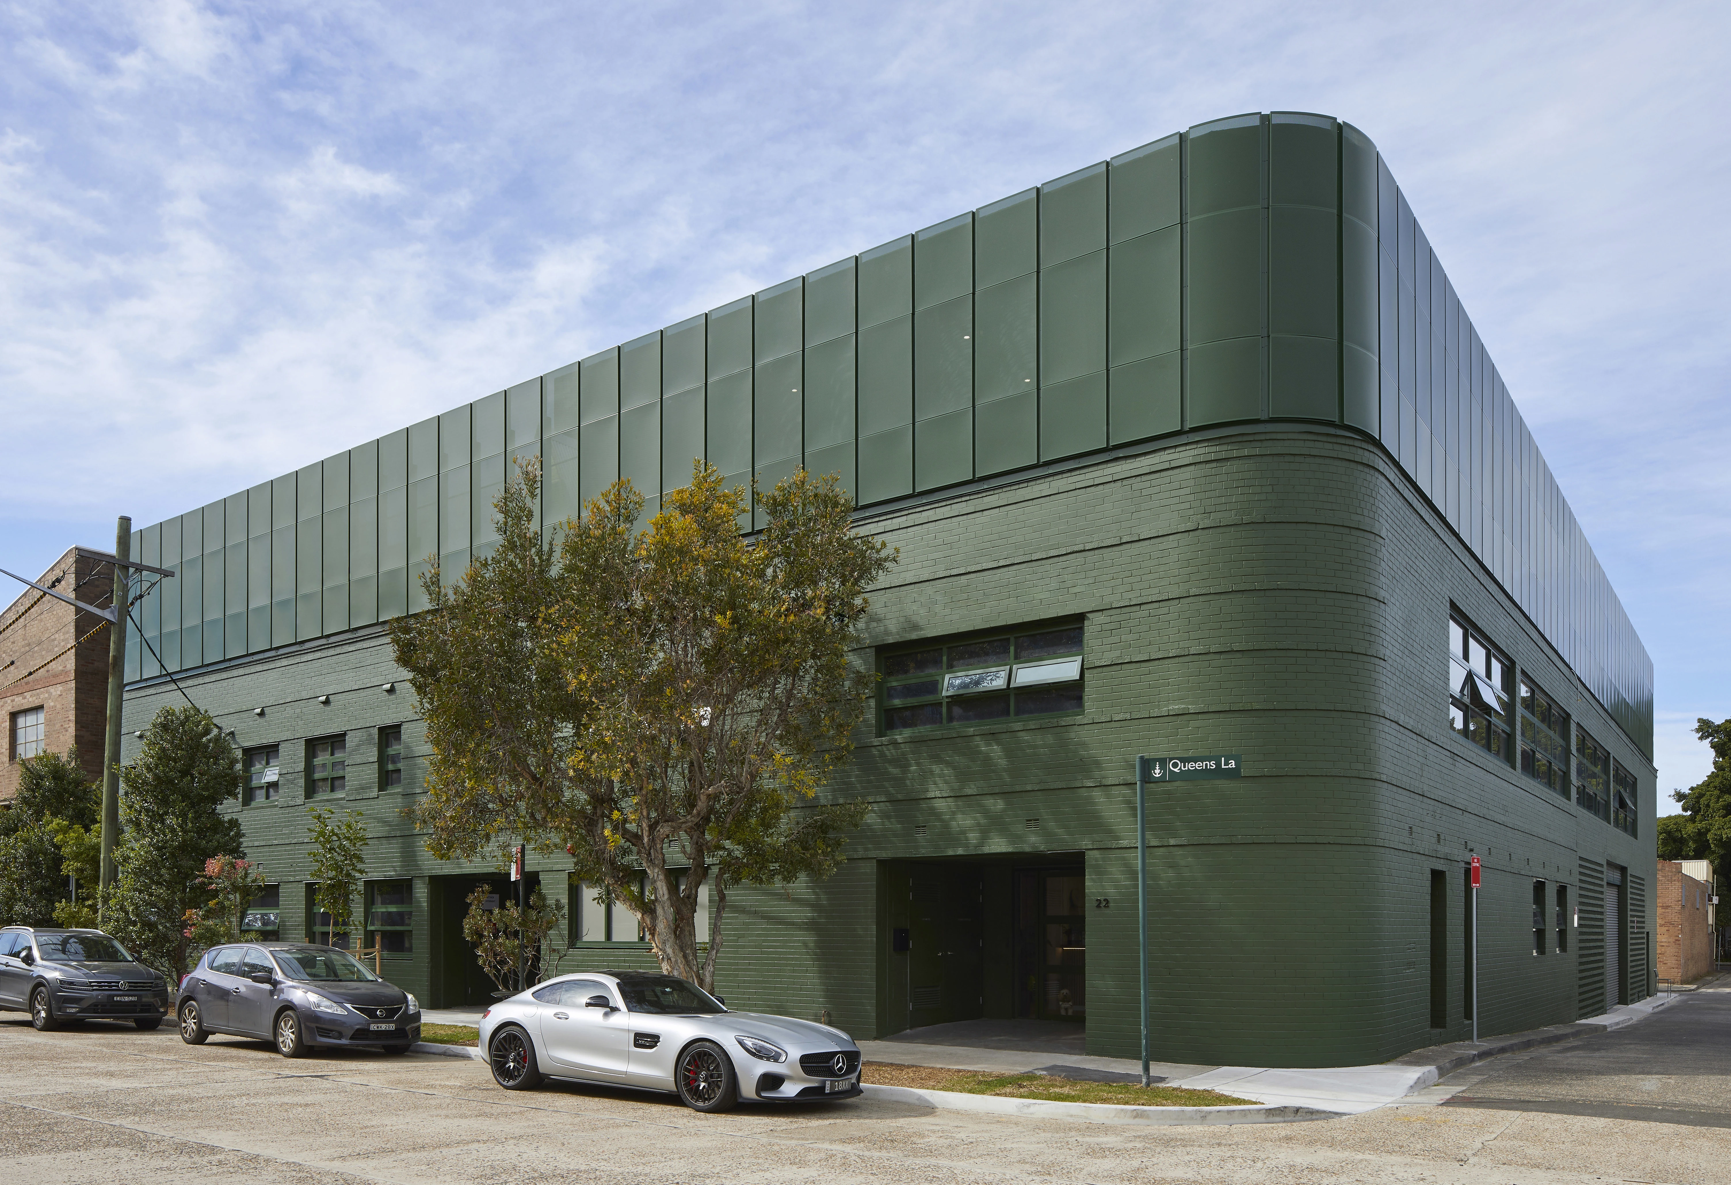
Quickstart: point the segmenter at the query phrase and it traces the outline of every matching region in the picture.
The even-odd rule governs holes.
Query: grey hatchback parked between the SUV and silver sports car
[[[421,1002],[353,955],[306,943],[211,946],[180,981],[180,1040],[260,1036],[284,1057],[315,1045],[407,1054],[421,1040]]]

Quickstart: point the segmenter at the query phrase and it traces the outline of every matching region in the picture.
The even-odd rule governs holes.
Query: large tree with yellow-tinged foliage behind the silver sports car
[[[530,464],[495,507],[499,547],[433,611],[391,623],[433,758],[419,823],[441,858],[516,837],[564,849],[642,922],[661,967],[705,988],[729,889],[826,877],[862,803],[815,801],[850,753],[874,675],[848,659],[893,552],[852,524],[834,476],[744,493],[698,462],[647,529],[630,483],[535,522]],[[713,920],[698,946],[698,900]]]

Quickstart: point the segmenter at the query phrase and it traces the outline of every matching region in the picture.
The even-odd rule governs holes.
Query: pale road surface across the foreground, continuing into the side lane
[[[1475,1067],[1473,1105],[1156,1130],[864,1099],[699,1116],[621,1090],[507,1093],[479,1062],[450,1057],[343,1052],[289,1062],[260,1041],[213,1038],[187,1047],[166,1026],[137,1033],[88,1024],[38,1034],[23,1017],[0,1014],[0,1163],[7,1182],[28,1185],[1731,1185],[1731,1130],[1651,1121],[1663,1109],[1722,1114],[1726,1092],[1702,1073],[1712,1062],[1708,1047],[1724,1040],[1722,1000],[1731,996],[1703,995],[1620,1034]],[[1662,1019],[1670,1024],[1660,1028]],[[1644,1026],[1655,1026],[1655,1036],[1644,1036]],[[1612,1052],[1594,1052],[1596,1043]],[[1603,1092],[1577,1079],[1598,1081]],[[1648,1079],[1657,1083],[1651,1090],[1641,1086]],[[1632,1118],[1503,1105],[1631,1105],[1629,1092],[1641,1092],[1651,1111]]]

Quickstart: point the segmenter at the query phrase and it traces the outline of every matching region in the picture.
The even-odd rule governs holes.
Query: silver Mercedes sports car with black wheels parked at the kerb
[[[481,1015],[481,1048],[505,1090],[571,1078],[677,1093],[694,1111],[741,1099],[852,1099],[860,1050],[841,1029],[756,1012],[673,976],[561,976]]]

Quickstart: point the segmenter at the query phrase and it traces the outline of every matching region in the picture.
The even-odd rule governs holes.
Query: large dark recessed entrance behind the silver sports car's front
[[[878,886],[879,1036],[981,1019],[1082,1031],[1080,853],[883,862]]]

